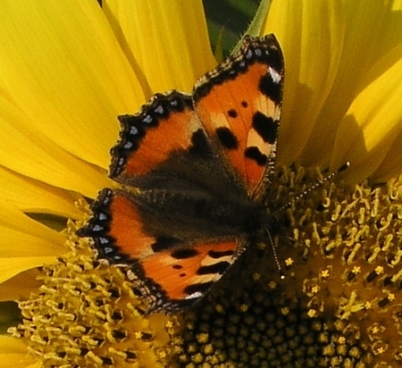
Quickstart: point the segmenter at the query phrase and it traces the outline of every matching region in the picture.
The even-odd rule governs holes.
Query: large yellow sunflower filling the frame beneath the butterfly
[[[285,205],[273,240],[286,278],[259,246],[195,308],[145,317],[130,281],[75,231],[86,198],[113,185],[116,117],[155,92],[189,92],[216,65],[203,6],[0,4],[0,296],[22,316],[0,339],[0,366],[397,366],[401,11],[397,1],[261,4],[248,32],[274,33],[285,57],[267,205]]]

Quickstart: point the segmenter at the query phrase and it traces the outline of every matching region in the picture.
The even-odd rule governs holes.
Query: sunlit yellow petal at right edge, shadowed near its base
[[[364,88],[340,123],[332,162],[332,166],[336,166],[350,161],[353,167],[353,178],[350,179],[353,181],[372,175],[384,162],[389,148],[397,144],[397,139],[400,142],[402,45],[375,63],[365,73],[361,86]],[[377,176],[383,175],[380,169]]]

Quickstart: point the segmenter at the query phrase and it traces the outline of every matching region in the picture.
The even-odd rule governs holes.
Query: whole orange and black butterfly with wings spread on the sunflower
[[[277,39],[246,36],[191,95],[155,94],[119,116],[109,177],[120,188],[99,193],[78,234],[130,269],[147,313],[194,305],[247,248],[269,242],[283,77]]]

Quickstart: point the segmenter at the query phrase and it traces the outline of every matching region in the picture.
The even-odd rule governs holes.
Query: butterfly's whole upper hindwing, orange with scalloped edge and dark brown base
[[[187,183],[224,196],[245,188],[228,173],[193,109],[189,95],[156,94],[135,115],[119,116],[120,141],[109,177],[124,186],[183,191]]]

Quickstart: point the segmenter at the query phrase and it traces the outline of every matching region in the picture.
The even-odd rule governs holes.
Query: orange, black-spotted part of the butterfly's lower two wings
[[[194,304],[239,256],[239,238],[181,241],[150,230],[141,203],[104,189],[93,217],[80,230],[94,238],[100,258],[130,265],[132,280],[147,299],[148,313],[172,313]],[[151,226],[152,228],[152,226]]]

